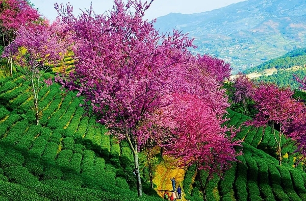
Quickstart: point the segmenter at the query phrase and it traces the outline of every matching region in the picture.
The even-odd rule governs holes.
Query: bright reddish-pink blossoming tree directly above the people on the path
[[[240,154],[235,146],[235,133],[231,129],[222,127],[226,121],[210,107],[210,104],[197,95],[175,94],[173,103],[169,107],[175,126],[173,137],[164,144],[166,155],[171,155],[182,166],[196,165],[197,175],[201,185],[204,200],[206,200],[206,184],[202,183],[200,170],[206,170],[209,175],[218,173],[231,167],[231,161],[237,161]]]

